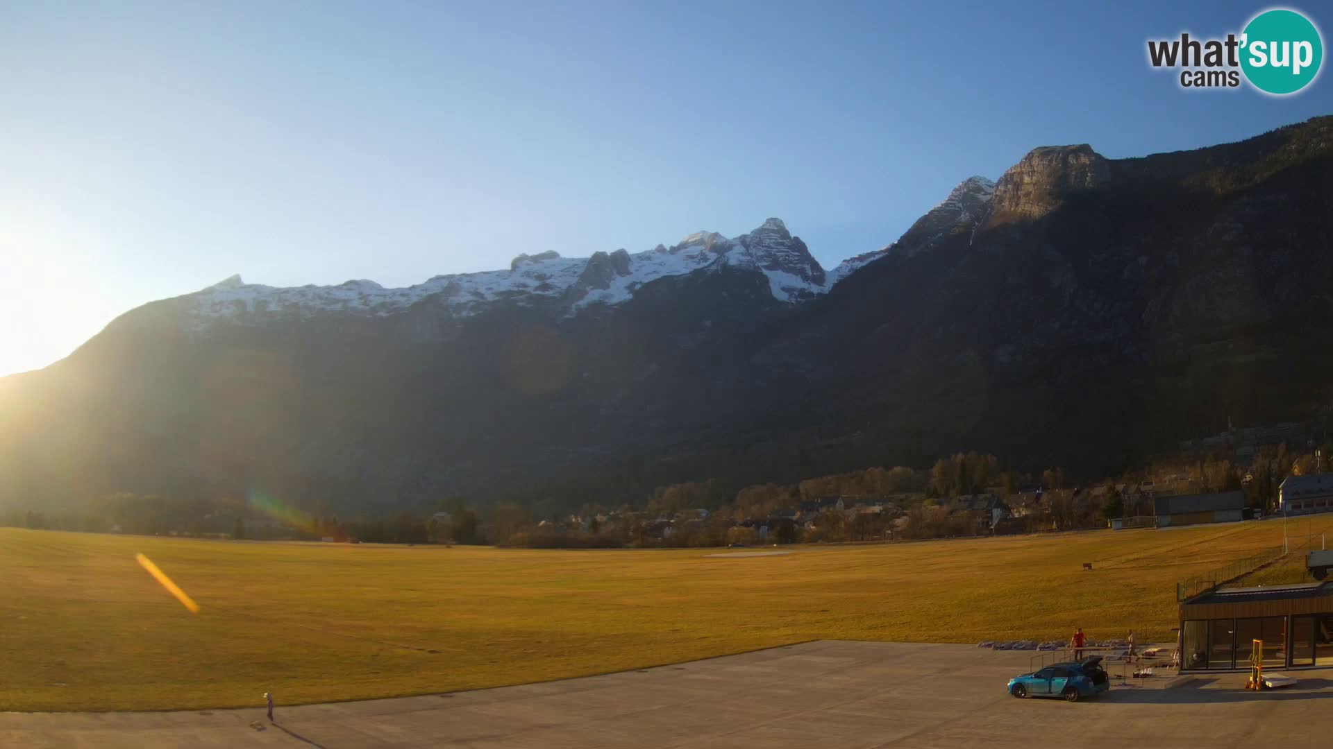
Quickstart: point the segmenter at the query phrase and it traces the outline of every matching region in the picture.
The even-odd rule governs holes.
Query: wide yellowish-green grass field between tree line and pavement
[[[1314,530],[1333,530],[1333,517]],[[865,546],[519,550],[0,528],[0,710],[389,697],[816,638],[1170,640],[1174,582],[1280,521]],[[201,606],[187,612],[145,553]],[[1092,572],[1082,562],[1094,565]]]

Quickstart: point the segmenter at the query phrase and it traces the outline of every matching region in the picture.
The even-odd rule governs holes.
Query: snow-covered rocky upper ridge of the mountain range
[[[924,229],[946,232],[964,221],[974,221],[993,191],[990,180],[966,180],[922,216],[904,239]],[[201,325],[240,315],[307,319],[323,312],[352,312],[384,316],[428,297],[437,299],[460,317],[476,315],[503,300],[531,304],[541,297],[559,300],[569,313],[576,313],[592,305],[621,304],[636,289],[659,279],[725,267],[762,273],[773,299],[798,303],[828,292],[901,241],[848,259],[825,273],[800,237],[793,237],[780,219],[769,219],[754,231],[732,239],[716,232],[696,232],[670,248],[657,245],[639,253],[617,249],[596,252],[592,257],[561,257],[556,252],[520,255],[507,271],[436,276],[423,284],[395,289],[368,280],[336,287],[277,288],[247,284],[240,276],[232,276],[192,295],[192,316]]]

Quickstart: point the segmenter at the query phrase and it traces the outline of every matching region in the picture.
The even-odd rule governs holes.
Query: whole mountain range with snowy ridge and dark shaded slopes
[[[0,504],[620,504],[962,449],[1117,470],[1328,402],[1330,144],[1318,117],[1036,148],[828,271],[768,219],[403,289],[233,276],[0,378]]]

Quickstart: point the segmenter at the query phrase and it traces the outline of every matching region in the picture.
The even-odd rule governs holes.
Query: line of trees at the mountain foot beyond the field
[[[932,538],[986,529],[976,513],[954,508],[953,500],[958,497],[993,494],[1017,504],[1016,497],[1030,501],[1033,490],[1040,488],[1044,497],[1040,512],[1006,521],[1005,529],[1089,528],[1114,517],[1150,514],[1150,505],[1133,488],[1154,476],[1173,477],[1189,492],[1244,489],[1252,506],[1272,508],[1282,478],[1324,470],[1333,470],[1333,444],[1305,453],[1290,453],[1282,444],[1260,448],[1248,469],[1221,453],[1177,456],[1089,488],[1077,486],[1060,466],[1024,472],[1004,466],[993,454],[960,452],[936,460],[928,469],[872,466],[792,484],[736,488],[720,478],[682,481],[657,486],[619,506],[584,504],[561,513],[539,512],[531,504],[513,501],[477,505],[449,498],[388,516],[291,510],[275,517],[244,500],[117,493],[69,512],[0,512],[0,525],[219,538],[533,548],[748,545],[758,542],[761,528],[766,533],[764,540],[770,542]],[[1129,489],[1122,492],[1121,486]],[[892,509],[804,513],[800,521],[782,514],[821,497],[845,497],[849,504],[880,502]],[[665,532],[668,521],[670,530]]]

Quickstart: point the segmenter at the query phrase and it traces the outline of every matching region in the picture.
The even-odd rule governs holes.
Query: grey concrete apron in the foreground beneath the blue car
[[[1317,746],[1333,670],[1249,693],[1245,674],[1014,700],[1026,652],[820,641],[674,666],[453,694],[180,713],[0,713],[0,746]],[[1112,673],[1117,673],[1113,670]],[[281,696],[279,696],[281,697]]]

